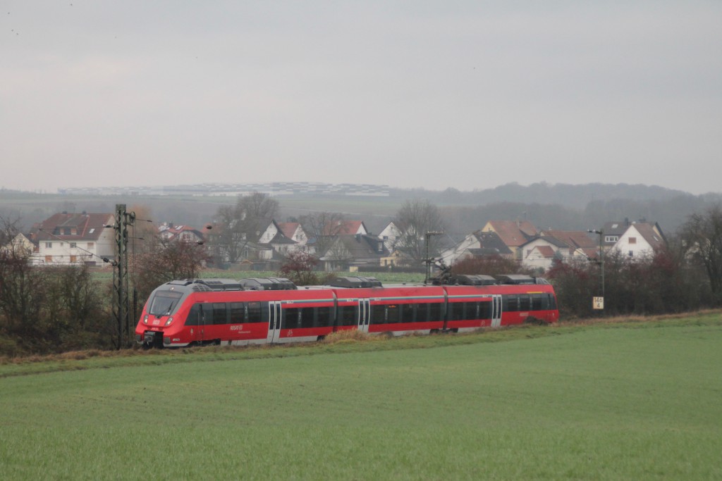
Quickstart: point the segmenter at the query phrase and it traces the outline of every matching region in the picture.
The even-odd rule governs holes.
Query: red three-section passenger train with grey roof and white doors
[[[149,347],[297,343],[339,330],[428,334],[558,318],[552,286],[523,275],[458,275],[447,285],[386,287],[365,277],[304,287],[283,278],[188,279],[152,292],[136,342]]]

